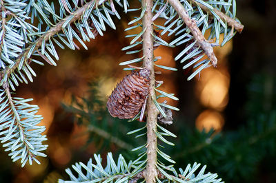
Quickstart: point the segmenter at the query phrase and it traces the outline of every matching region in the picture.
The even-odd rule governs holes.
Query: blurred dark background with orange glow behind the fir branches
[[[108,28],[104,36],[86,43],[88,50],[81,46],[77,51],[59,50],[57,67],[32,65],[38,76],[33,83],[21,84],[17,96],[34,98],[39,105],[48,157],[40,159],[41,165],[21,169],[1,149],[0,182],[68,179],[65,169],[87,162],[93,153],[136,157],[128,150],[143,140],[124,137],[143,124],[113,119],[106,111],[107,96],[128,74],[119,63],[132,58],[121,48],[130,43],[124,29],[133,16],[122,13],[122,21],[112,18],[117,30]],[[216,47],[217,68],[204,69],[193,80],[187,81],[193,70],[183,70],[174,61],[185,45],[155,50],[155,56],[162,57],[157,64],[178,69],[160,69],[157,76],[164,80],[162,89],[179,98],[166,99],[180,109],[168,126],[177,135],[170,140],[176,147],[166,151],[177,162],[175,167],[197,161],[226,182],[276,182],[276,2],[239,0],[237,17],[245,26],[242,34]]]

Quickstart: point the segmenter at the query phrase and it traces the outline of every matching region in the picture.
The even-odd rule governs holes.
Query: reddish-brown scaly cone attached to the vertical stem
[[[150,70],[141,69],[128,74],[108,97],[108,111],[120,119],[134,118],[148,96]]]

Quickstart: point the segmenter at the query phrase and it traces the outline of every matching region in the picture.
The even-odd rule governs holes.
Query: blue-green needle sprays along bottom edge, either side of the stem
[[[135,160],[133,162],[126,162],[122,155],[119,155],[117,164],[112,158],[112,153],[108,153],[106,157],[106,167],[103,168],[101,165],[101,156],[94,154],[95,164],[92,163],[90,159],[86,164],[82,162],[72,165],[77,173],[77,177],[72,173],[70,169],[66,169],[66,173],[70,176],[70,181],[59,180],[59,182],[134,182],[141,179],[141,162]],[[179,169],[179,173],[173,168],[171,171],[173,175],[159,175],[157,181],[165,180],[165,182],[221,182],[221,179],[216,179],[217,174],[205,173],[206,166],[203,166],[199,173],[195,175],[195,171],[199,170],[200,164],[196,162],[193,164],[188,164],[186,169]],[[83,172],[84,171],[84,172]],[[136,180],[137,179],[137,180]]]

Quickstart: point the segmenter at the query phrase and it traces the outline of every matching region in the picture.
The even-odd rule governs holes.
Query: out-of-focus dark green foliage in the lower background
[[[264,178],[268,178],[268,182],[275,180],[275,169],[271,161],[275,161],[275,142],[276,142],[276,108],[272,107],[269,111],[265,111],[260,103],[264,100],[264,87],[266,74],[256,74],[253,80],[248,84],[248,101],[244,105],[246,122],[239,125],[237,129],[224,130],[221,133],[214,131],[198,131],[189,126],[188,121],[181,120],[177,116],[174,124],[167,127],[175,134],[177,139],[170,141],[176,144],[175,147],[169,147],[166,144],[164,148],[166,153],[171,155],[172,159],[177,162],[176,167],[183,167],[185,164],[200,162],[208,165],[208,171],[216,172],[226,182],[259,182]],[[276,86],[275,82],[272,83]],[[275,89],[275,87],[274,87]],[[91,94],[97,94],[95,85],[92,85]],[[271,100],[275,100],[275,95]],[[90,109],[96,105],[101,106],[102,102],[95,100],[96,96],[86,100],[86,105]],[[256,100],[258,99],[258,100]],[[259,103],[260,102],[260,103]],[[79,105],[77,108],[83,107]],[[66,107],[68,111],[75,111],[74,107]],[[134,144],[135,147],[143,144],[144,140],[126,138],[127,131],[136,129],[141,123],[128,123],[126,120],[117,120],[110,117],[107,110],[93,111],[89,114],[81,114],[81,111],[75,111],[75,114],[81,116],[79,123],[89,120],[87,125],[93,125],[100,129],[106,130],[128,144]],[[101,116],[100,120],[99,116]],[[86,118],[86,120],[83,120]],[[118,131],[119,129],[119,131]],[[125,133],[124,133],[125,132]],[[97,133],[90,134],[91,142],[102,144],[97,151],[104,152],[110,149],[110,139],[101,138]],[[100,141],[104,141],[100,143]],[[116,146],[116,145],[115,145]],[[137,154],[131,153],[130,149],[119,148],[115,150],[115,155],[123,153],[129,160],[135,159]],[[116,157],[116,156],[115,156]],[[268,161],[269,160],[269,161]],[[264,173],[263,167],[266,167]],[[270,167],[269,169],[267,167]],[[250,176],[248,176],[250,175]]]

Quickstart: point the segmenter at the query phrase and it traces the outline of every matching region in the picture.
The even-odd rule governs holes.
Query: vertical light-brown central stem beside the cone
[[[157,162],[157,136],[155,131],[157,131],[157,115],[159,111],[153,100],[156,100],[155,96],[155,69],[153,62],[153,22],[152,22],[152,0],[142,0],[142,7],[146,7],[146,12],[143,17],[143,29],[146,31],[143,34],[143,54],[144,61],[143,66],[150,70],[150,87],[148,94],[147,103],[147,165],[145,172],[146,182],[155,182],[155,177],[157,176],[157,167],[155,166]]]

